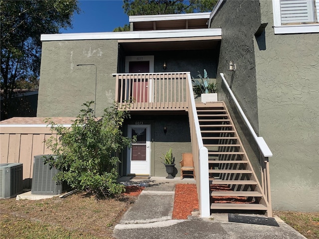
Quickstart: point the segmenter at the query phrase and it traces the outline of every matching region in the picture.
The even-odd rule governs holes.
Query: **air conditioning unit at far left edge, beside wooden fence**
[[[0,198],[15,197],[22,191],[22,163],[0,164]]]

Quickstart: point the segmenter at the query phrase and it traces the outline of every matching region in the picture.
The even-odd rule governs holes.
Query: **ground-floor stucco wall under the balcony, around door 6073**
[[[165,166],[162,163],[163,160],[160,157],[163,157],[162,154],[172,148],[175,158],[175,177],[179,177],[181,154],[192,152],[186,113],[184,112],[182,115],[155,115],[150,112],[146,115],[132,115],[131,119],[127,120],[125,124],[136,124],[137,122],[151,125],[151,176],[167,176]],[[163,131],[164,127],[167,128],[166,134]],[[127,131],[125,131],[125,134],[127,135]],[[122,161],[121,174],[126,175],[126,151],[123,153]]]

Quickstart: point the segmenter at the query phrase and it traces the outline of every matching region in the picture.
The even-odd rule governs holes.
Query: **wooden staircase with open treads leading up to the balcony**
[[[196,111],[208,149],[211,212],[267,215],[268,202],[224,102],[196,103]]]

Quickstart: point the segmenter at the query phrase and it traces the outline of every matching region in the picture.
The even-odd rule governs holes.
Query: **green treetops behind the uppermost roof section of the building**
[[[217,0],[123,0],[124,12],[129,16],[210,12]],[[130,26],[113,31],[130,31]]]

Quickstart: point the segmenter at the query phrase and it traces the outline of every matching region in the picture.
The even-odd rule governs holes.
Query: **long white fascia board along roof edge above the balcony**
[[[221,28],[42,34],[41,41],[110,40],[221,36]]]

